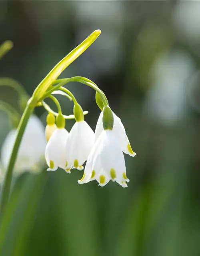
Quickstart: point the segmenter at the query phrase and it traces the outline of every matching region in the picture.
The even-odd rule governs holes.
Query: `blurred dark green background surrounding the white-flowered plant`
[[[199,256],[200,1],[2,0],[0,43],[12,40],[14,48],[1,59],[0,76],[31,95],[95,29],[99,38],[60,78],[93,80],[121,118],[137,153],[125,156],[128,188],[79,185],[78,170],[18,176],[0,255]],[[68,88],[94,130],[94,91]],[[72,102],[58,99],[72,114]],[[12,89],[1,87],[0,100],[18,109]],[[44,109],[35,114],[45,126]],[[2,145],[11,126],[4,112],[0,120]],[[66,122],[68,131],[73,124]]]

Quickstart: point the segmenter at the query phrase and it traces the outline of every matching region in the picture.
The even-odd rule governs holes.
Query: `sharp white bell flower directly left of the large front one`
[[[66,142],[67,168],[72,167],[82,170],[82,165],[88,159],[94,146],[94,132],[84,121],[76,122],[70,130]]]

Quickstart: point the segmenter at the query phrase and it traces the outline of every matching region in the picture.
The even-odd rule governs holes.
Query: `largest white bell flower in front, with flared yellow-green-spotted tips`
[[[97,180],[99,186],[105,186],[110,180],[116,181],[122,187],[127,187],[129,182],[126,177],[124,154],[118,138],[112,130],[104,130],[92,148],[84,175],[79,184]]]

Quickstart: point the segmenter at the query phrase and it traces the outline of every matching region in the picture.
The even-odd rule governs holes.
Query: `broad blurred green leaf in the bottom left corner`
[[[28,175],[22,188],[13,191],[0,227],[0,255],[19,256],[26,249],[46,173]]]

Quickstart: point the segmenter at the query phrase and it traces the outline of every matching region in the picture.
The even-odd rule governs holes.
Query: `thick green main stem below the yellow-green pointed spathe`
[[[2,217],[2,213],[4,211],[4,208],[8,202],[8,198],[10,196],[10,188],[11,188],[11,182],[12,182],[12,174],[13,174],[13,168],[16,161],[17,153],[19,150],[20,142],[22,140],[22,136],[24,134],[24,130],[26,128],[26,124],[28,122],[28,119],[30,115],[33,112],[33,109],[31,106],[27,105],[24,113],[22,115],[22,118],[20,120],[19,126],[18,126],[18,132],[16,136],[16,140],[13,146],[12,154],[10,156],[10,161],[8,164],[8,168],[6,171],[6,176],[4,178],[4,183],[1,191],[1,198],[0,198],[0,217]]]

